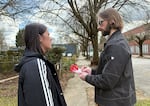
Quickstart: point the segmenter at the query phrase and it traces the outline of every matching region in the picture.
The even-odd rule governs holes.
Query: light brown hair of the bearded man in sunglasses
[[[102,12],[99,13],[99,16],[103,18],[104,20],[107,20],[108,23],[111,25],[114,29],[123,29],[123,21],[118,13],[114,8],[108,8]]]

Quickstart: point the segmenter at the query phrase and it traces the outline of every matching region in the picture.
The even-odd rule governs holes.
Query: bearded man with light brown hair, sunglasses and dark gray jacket
[[[131,51],[122,34],[123,21],[113,8],[98,13],[98,30],[108,35],[98,67],[81,67],[82,80],[95,87],[98,106],[134,106],[136,103]]]

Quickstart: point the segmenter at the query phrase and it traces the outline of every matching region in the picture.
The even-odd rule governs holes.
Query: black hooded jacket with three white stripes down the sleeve
[[[54,65],[25,49],[19,64],[18,106],[67,106]]]

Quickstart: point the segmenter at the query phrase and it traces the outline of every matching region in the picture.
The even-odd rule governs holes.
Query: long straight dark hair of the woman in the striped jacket
[[[39,23],[31,23],[25,27],[24,40],[27,49],[43,54],[40,47],[39,36],[46,31],[47,27]]]

